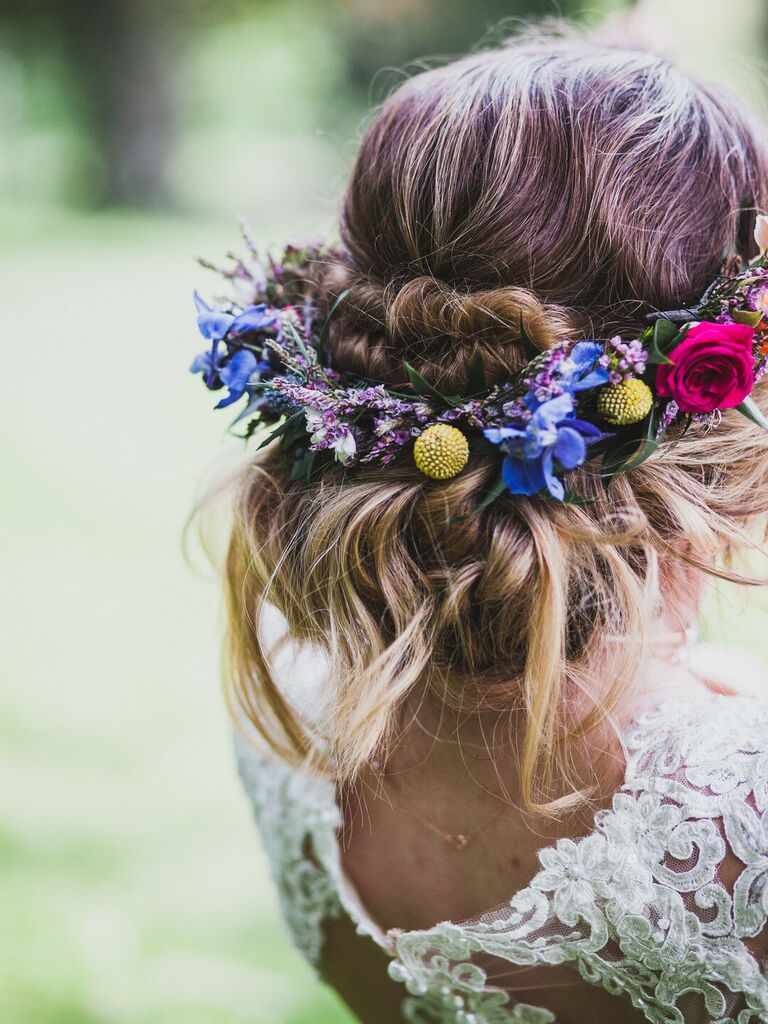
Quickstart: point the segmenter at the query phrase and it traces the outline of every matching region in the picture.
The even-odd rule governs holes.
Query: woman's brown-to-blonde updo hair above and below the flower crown
[[[767,187],[750,116],[645,52],[531,34],[421,74],[371,124],[317,268],[318,305],[342,296],[332,364],[393,383],[408,360],[461,393],[475,351],[489,384],[524,364],[521,323],[541,348],[637,336],[749,250]],[[574,489],[592,504],[478,510],[489,459],[444,482],[403,459],[306,483],[267,450],[244,473],[227,566],[241,702],[284,756],[327,743],[342,778],[394,741],[414,695],[509,711],[525,800],[562,793],[569,732],[605,714],[606,682],[630,681],[665,602],[724,572],[765,514],[765,456],[726,413],[607,492],[587,463]],[[271,677],[265,602],[328,653],[319,725]]]

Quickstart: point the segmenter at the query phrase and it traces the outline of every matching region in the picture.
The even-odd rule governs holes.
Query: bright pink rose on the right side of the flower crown
[[[656,392],[684,413],[733,409],[755,386],[755,329],[703,322],[688,331],[656,373]]]

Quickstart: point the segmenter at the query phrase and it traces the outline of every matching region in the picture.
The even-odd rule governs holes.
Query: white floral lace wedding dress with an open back
[[[612,806],[586,838],[541,850],[527,888],[469,922],[387,933],[342,872],[333,783],[245,740],[238,756],[296,945],[316,965],[324,920],[348,914],[389,954],[403,1020],[554,1022],[490,983],[502,962],[570,964],[653,1024],[765,1024],[768,700],[667,702],[625,744]]]

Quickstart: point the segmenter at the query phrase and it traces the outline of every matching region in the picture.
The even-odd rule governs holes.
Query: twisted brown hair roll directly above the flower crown
[[[476,350],[488,383],[501,382],[525,362],[521,323],[542,349],[577,330],[563,306],[514,286],[468,291],[427,275],[381,285],[341,264],[324,285],[329,305],[342,297],[331,326],[335,365],[388,382],[402,378],[407,360],[460,390]]]

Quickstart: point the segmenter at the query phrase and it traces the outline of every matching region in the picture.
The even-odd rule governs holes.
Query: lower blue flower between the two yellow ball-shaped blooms
[[[587,445],[605,436],[594,424],[575,418],[573,396],[567,392],[542,402],[526,423],[488,427],[483,433],[506,455],[502,478],[513,495],[547,490],[558,501],[565,487],[555,476],[555,459],[563,469],[575,469],[587,458]]]

